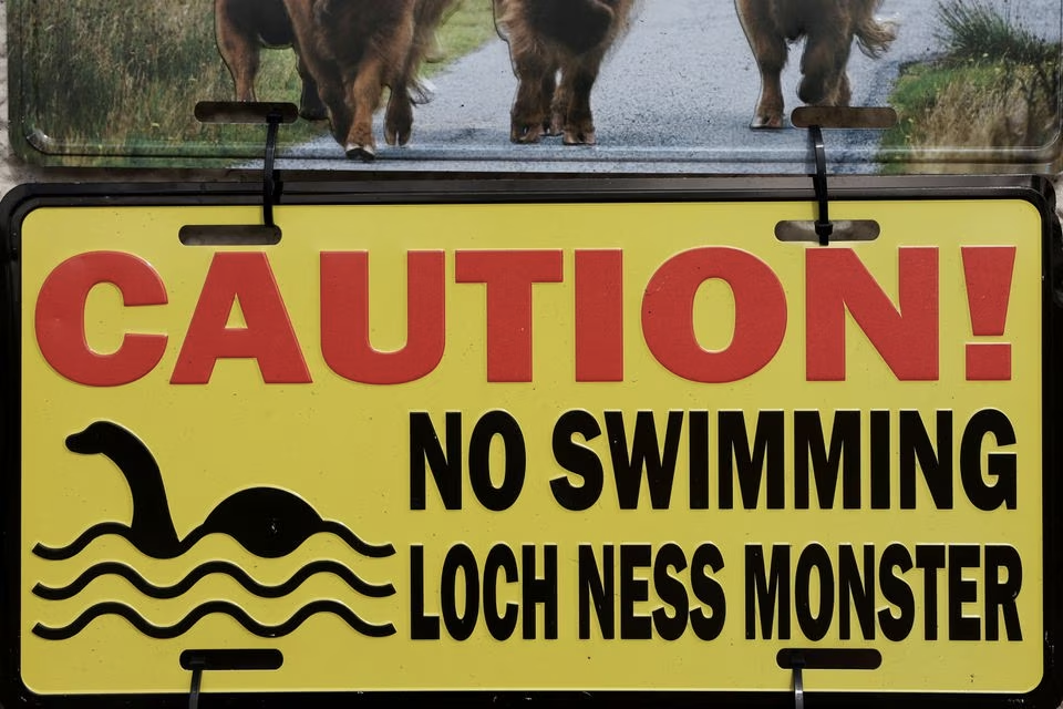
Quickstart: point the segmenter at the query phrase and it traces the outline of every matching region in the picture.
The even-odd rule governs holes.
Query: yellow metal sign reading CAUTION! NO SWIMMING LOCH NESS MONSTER
[[[1024,696],[1045,676],[1042,215],[854,201],[21,222],[19,674],[218,692]],[[1054,580],[1051,582],[1054,584]],[[784,651],[783,655],[780,655]]]

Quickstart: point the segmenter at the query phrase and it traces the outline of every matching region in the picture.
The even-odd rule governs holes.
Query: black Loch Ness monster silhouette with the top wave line
[[[33,553],[45,559],[72,558],[106,534],[124,537],[138,552],[157,559],[176,558],[208,534],[227,534],[264,558],[287,556],[321,533],[338,536],[363,556],[382,558],[395,553],[391,544],[368,544],[339,522],[322,520],[302,499],[279,487],[250,487],[233,493],[218,503],[203,524],[180,538],[174,528],[158,463],[135,434],[117,423],[95,421],[84,431],[66,436],[66,448],[85,455],[102,453],[118,467],[133,496],[133,520],[130,525],[96,524],[65,547],[38,544]]]

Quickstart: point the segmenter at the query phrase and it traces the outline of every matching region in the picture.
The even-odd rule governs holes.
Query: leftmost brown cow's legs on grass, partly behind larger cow
[[[279,49],[292,44],[291,21],[282,0],[215,0],[214,20],[218,51],[236,84],[236,100],[255,101],[259,51],[264,47]],[[301,63],[299,74],[300,115],[311,121],[323,119],[318,88]]]

